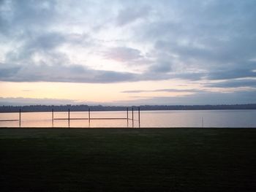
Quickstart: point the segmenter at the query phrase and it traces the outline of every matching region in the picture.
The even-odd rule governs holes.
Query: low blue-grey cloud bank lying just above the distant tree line
[[[143,105],[143,104],[163,104],[163,105],[193,105],[193,104],[253,104],[256,103],[256,91],[237,91],[235,93],[213,93],[199,92],[184,96],[132,96],[135,100],[115,101],[108,105]],[[30,98],[4,98],[0,97],[0,105],[30,105],[30,104],[99,104],[95,102],[80,102],[72,99],[30,99]],[[107,104],[107,103],[106,103]]]

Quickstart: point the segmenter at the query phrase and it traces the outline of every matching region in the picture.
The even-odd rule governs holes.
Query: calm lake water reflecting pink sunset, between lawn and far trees
[[[67,118],[54,112],[54,118]],[[91,112],[91,118],[126,118],[122,112]],[[88,118],[88,112],[70,112],[70,118]],[[132,112],[129,112],[132,118]],[[0,120],[19,119],[18,113],[0,113]],[[138,112],[134,112],[138,127]],[[0,121],[0,127],[18,127],[19,121]],[[54,120],[51,112],[21,113],[21,127],[132,127],[132,120]],[[141,111],[140,127],[256,127],[256,110]]]

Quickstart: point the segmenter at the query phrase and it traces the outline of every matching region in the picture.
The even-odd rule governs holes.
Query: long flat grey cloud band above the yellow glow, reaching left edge
[[[10,66],[10,65],[9,65]],[[124,82],[135,80],[136,75],[128,72],[111,72],[87,69],[80,65],[33,65],[0,66],[0,80],[10,82]],[[9,72],[9,73],[4,73]]]

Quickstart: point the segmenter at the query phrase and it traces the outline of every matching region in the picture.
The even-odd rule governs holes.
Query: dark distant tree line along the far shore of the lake
[[[218,104],[218,105],[140,105],[132,106],[135,110],[256,110],[256,104]],[[129,110],[132,109],[129,107]],[[56,112],[70,111],[124,111],[124,106],[102,106],[86,104],[80,105],[27,105],[27,106],[0,106],[0,112]]]

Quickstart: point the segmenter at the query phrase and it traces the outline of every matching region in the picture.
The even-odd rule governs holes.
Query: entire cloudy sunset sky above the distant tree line
[[[256,103],[255,0],[0,0],[0,105]]]

